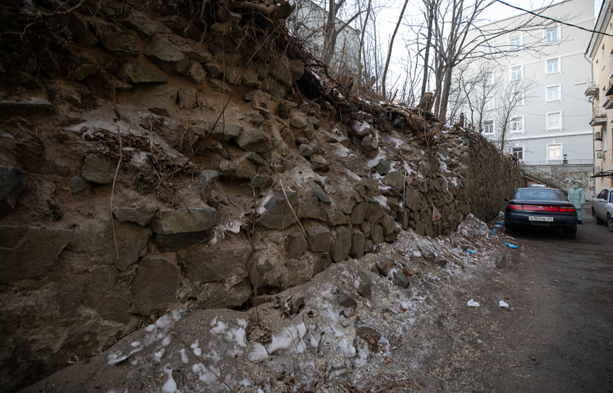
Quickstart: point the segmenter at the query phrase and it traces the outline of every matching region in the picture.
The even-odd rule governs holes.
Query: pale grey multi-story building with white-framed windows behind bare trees
[[[594,26],[592,0],[566,0],[535,13],[589,30]],[[584,95],[591,77],[584,58],[590,32],[524,13],[472,34],[493,38],[469,67],[468,73],[480,73],[482,80],[471,94],[482,99],[463,103],[465,118],[530,165],[593,164],[592,106]]]

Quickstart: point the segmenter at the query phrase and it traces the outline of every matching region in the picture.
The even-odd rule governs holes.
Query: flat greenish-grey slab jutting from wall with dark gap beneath
[[[151,229],[155,233],[173,234],[199,232],[216,225],[217,210],[206,208],[163,209],[151,220]]]

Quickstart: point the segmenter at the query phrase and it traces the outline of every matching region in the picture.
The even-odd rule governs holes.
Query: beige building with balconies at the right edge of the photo
[[[592,63],[592,80],[585,95],[592,102],[596,192],[613,187],[613,20],[611,0],[604,0],[585,57]],[[605,36],[604,34],[609,34]]]

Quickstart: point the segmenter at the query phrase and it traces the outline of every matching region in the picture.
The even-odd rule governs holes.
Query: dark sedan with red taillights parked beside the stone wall
[[[506,199],[504,230],[513,234],[518,228],[562,230],[566,238],[577,236],[577,211],[558,189],[521,188]]]

